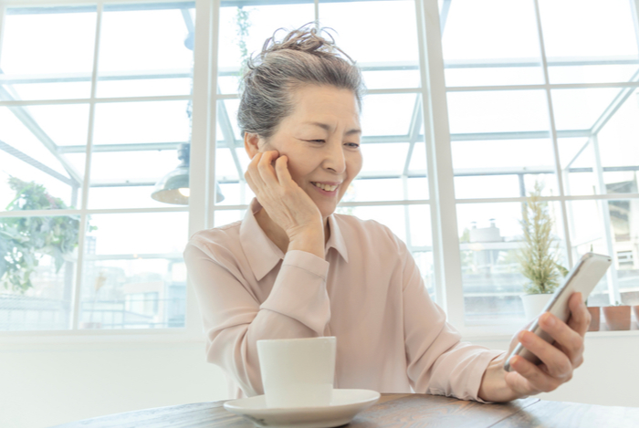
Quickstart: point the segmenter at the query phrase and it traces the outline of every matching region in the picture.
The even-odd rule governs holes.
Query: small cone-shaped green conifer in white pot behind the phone
[[[543,186],[535,183],[520,221],[524,239],[517,258],[521,274],[529,279],[524,286],[527,294],[552,293],[559,287],[560,277],[568,274],[568,269],[558,263],[559,243],[552,235],[548,203],[539,201],[542,190]]]

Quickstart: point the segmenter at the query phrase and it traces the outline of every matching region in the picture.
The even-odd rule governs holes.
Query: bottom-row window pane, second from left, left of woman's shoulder
[[[89,225],[79,328],[183,327],[188,213],[97,214]]]

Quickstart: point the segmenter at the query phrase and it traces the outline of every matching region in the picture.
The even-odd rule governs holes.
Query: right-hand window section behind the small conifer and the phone
[[[439,3],[466,324],[523,320],[515,252],[535,183],[563,265],[614,258],[592,305],[636,304],[636,2]]]

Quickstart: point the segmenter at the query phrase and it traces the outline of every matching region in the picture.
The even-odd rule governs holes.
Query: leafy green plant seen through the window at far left
[[[26,183],[16,177],[10,177],[8,183],[16,197],[5,211],[69,208],[61,199],[47,193],[41,184]],[[5,289],[24,294],[33,287],[31,275],[40,258],[52,256],[58,272],[65,256],[78,245],[78,233],[79,216],[0,218],[0,283]]]

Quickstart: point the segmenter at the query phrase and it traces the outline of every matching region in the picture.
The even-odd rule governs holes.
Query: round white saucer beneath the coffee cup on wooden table
[[[362,410],[380,399],[380,393],[369,390],[333,390],[328,406],[268,408],[264,395],[225,402],[225,409],[240,414],[257,426],[287,428],[323,428],[350,423]]]

